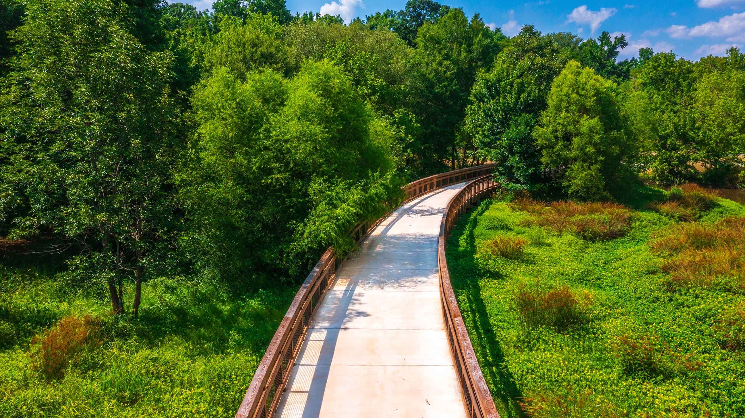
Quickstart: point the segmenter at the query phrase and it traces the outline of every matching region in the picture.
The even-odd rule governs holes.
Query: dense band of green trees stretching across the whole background
[[[627,47],[432,0],[349,25],[283,0],[1,0],[0,234],[54,237],[75,286],[136,315],[159,274],[296,280],[401,184],[484,161],[584,200],[744,184],[744,55]]]

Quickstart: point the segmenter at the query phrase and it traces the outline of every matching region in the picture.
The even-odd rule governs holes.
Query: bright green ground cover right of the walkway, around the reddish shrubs
[[[656,193],[647,190],[647,197]],[[706,221],[745,208],[729,200]],[[637,202],[641,207],[644,202]],[[476,255],[476,243],[498,235],[525,237],[527,213],[486,201],[460,220],[448,242],[448,265],[466,326],[502,417],[537,406],[541,417],[741,417],[745,415],[745,355],[723,350],[711,325],[726,306],[745,298],[713,290],[670,292],[662,259],[650,252],[654,231],[670,219],[635,213],[626,237],[585,242],[545,232],[522,260]],[[588,300],[589,321],[566,333],[523,327],[513,294],[521,281],[566,284]],[[615,345],[622,335],[658,335],[673,353],[701,361],[699,370],[649,377],[624,373]],[[695,368],[695,367],[694,367]]]

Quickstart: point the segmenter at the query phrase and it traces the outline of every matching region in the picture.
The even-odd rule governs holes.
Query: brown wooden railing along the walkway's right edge
[[[472,418],[499,418],[489,387],[484,381],[481,367],[471,345],[460,308],[450,283],[448,260],[445,258],[445,248],[455,222],[466,210],[480,199],[494,193],[498,189],[491,174],[471,181],[448,202],[440,223],[440,242],[437,244],[437,263],[440,267],[440,298],[443,304],[443,316],[446,322],[448,342],[453,355],[455,371],[460,381],[463,402],[466,404],[468,416]]]

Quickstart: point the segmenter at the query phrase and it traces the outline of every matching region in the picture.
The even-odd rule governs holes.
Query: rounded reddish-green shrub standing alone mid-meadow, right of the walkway
[[[538,283],[521,283],[515,293],[515,303],[523,321],[530,325],[564,330],[583,320],[580,303],[565,285],[544,289]]]

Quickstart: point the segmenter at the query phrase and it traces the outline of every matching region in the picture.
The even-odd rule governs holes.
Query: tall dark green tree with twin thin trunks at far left
[[[0,100],[0,179],[28,209],[14,236],[49,228],[73,240],[75,277],[103,282],[115,313],[133,280],[137,315],[143,281],[168,260],[179,112],[173,56],[130,33],[131,11],[110,0],[27,4]]]

